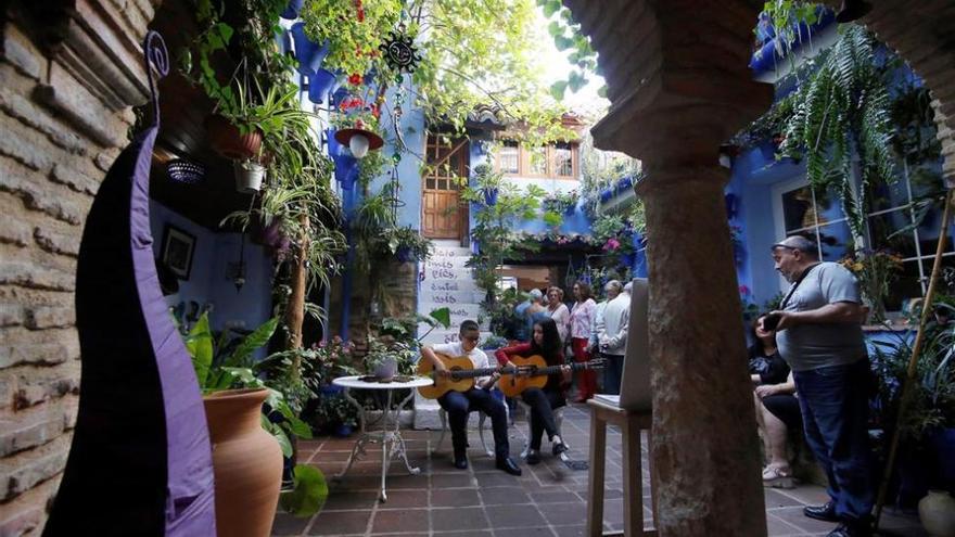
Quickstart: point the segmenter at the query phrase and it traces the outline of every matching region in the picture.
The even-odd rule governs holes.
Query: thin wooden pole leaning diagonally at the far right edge
[[[945,235],[948,234],[948,218],[951,217],[952,192],[945,194],[945,208],[942,212],[942,227],[939,230],[939,244],[935,246],[935,258],[932,263],[932,274],[929,277],[929,289],[926,292],[921,306],[921,317],[918,321],[918,332],[915,335],[915,345],[912,347],[912,356],[908,359],[908,370],[905,376],[905,383],[902,385],[902,395],[899,401],[899,417],[895,419],[895,432],[892,434],[892,443],[889,447],[889,460],[886,461],[886,471],[882,473],[882,483],[879,484],[879,495],[876,498],[876,521],[875,528],[879,528],[879,517],[882,515],[882,506],[886,503],[886,494],[889,490],[889,478],[892,477],[892,466],[895,463],[895,456],[899,451],[899,442],[902,437],[902,423],[905,418],[905,411],[908,410],[908,399],[911,397],[912,384],[915,382],[917,373],[918,359],[920,358],[921,347],[925,343],[925,327],[928,322],[929,315],[932,314],[932,301],[935,297],[935,283],[939,281],[939,272],[942,269],[942,253],[945,251]]]

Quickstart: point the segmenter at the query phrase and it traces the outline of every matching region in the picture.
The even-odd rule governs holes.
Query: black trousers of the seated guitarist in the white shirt
[[[448,413],[451,444],[455,455],[463,455],[468,447],[468,414],[480,410],[491,418],[494,432],[494,452],[498,458],[510,455],[507,438],[507,408],[486,389],[471,388],[467,392],[448,392],[437,398],[437,404]]]

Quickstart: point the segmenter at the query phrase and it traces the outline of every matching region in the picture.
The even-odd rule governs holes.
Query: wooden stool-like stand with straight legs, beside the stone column
[[[644,483],[641,478],[640,431],[649,434],[652,414],[632,412],[611,404],[590,399],[590,478],[587,486],[588,537],[624,535],[655,537],[655,529],[644,529]],[[603,533],[603,474],[607,463],[607,424],[616,425],[623,436],[623,522],[624,530]],[[650,497],[657,520],[657,484],[650,468]]]

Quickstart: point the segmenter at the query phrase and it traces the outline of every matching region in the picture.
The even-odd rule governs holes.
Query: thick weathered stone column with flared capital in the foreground
[[[728,175],[717,165],[720,144],[772,100],[747,67],[762,4],[563,3],[598,51],[613,103],[591,129],[595,145],[647,171],[636,189],[647,208],[659,535],[765,536]]]

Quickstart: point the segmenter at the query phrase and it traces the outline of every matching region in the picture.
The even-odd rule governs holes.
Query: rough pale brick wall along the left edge
[[[0,26],[0,535],[39,535],[79,393],[86,214],[144,102],[158,0],[5,3]],[[50,4],[55,3],[55,7]]]

